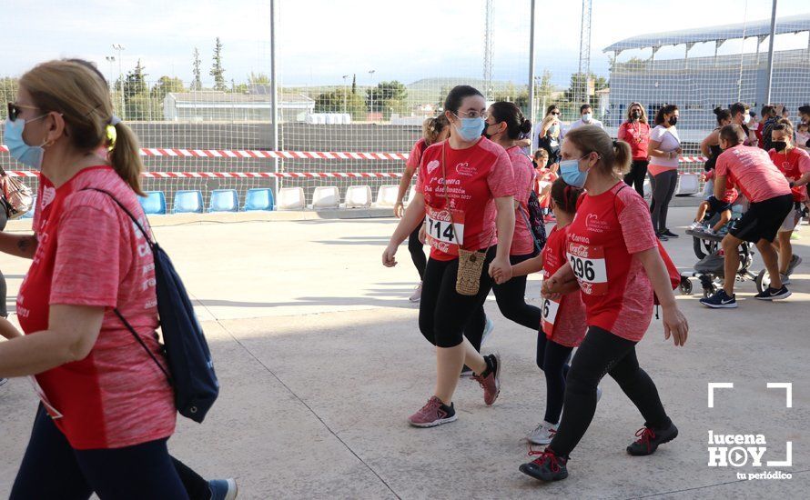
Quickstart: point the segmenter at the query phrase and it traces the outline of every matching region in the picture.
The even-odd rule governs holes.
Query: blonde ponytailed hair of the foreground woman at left
[[[76,61],[49,61],[25,73],[20,86],[41,111],[62,115],[66,136],[76,149],[93,152],[102,145],[111,147],[110,165],[137,195],[144,195],[137,136],[119,122],[114,125],[115,140],[108,137],[113,105],[106,82],[94,70]]]

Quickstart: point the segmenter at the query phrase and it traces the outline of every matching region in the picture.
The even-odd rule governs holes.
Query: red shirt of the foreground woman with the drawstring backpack
[[[58,189],[40,175],[39,244],[17,295],[17,314],[25,334],[36,335],[48,327],[50,305],[105,308],[90,354],[35,379],[74,448],[138,445],[172,435],[177,410],[166,376],[112,309],[119,308],[159,359],[155,264],[129,217],[109,196],[80,191],[86,187],[112,193],[146,220],[135,193],[108,166],[86,168]]]

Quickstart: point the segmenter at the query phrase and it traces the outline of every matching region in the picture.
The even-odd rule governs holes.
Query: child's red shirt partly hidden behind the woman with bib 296
[[[547,279],[565,265],[568,227],[555,225],[542,248],[542,277]],[[542,331],[549,340],[566,347],[582,343],[587,323],[582,294],[563,295],[559,301],[542,299]]]

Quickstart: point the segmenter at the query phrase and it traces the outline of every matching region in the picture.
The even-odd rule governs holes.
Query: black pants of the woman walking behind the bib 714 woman
[[[509,262],[511,265],[516,265],[533,256],[534,254],[510,255]],[[495,301],[498,303],[498,309],[501,310],[503,317],[535,332],[540,328],[542,317],[540,307],[526,304],[526,276],[515,276],[501,285],[493,284],[492,292],[495,294]],[[464,335],[470,339],[470,342],[476,338],[479,339],[479,345],[481,345],[480,339],[486,326],[486,317],[483,303],[481,303],[481,308],[472,315],[470,324],[464,328]],[[473,343],[473,345],[475,344]]]

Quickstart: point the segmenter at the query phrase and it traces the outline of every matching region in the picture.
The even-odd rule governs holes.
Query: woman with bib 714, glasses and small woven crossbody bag
[[[483,95],[469,85],[453,87],[444,109],[454,130],[447,141],[431,145],[422,155],[416,195],[382,254],[383,265],[397,265],[397,248],[424,221],[430,259],[422,282],[419,325],[422,335],[436,345],[438,373],[434,394],[410,416],[410,424],[418,427],[456,419],[452,396],[463,365],[471,367],[483,387],[486,405],[498,398],[500,359],[480,355],[462,332],[490,292],[488,271],[511,271],[509,250],[515,225],[509,155],[481,136],[487,117]],[[459,255],[467,252],[475,252],[472,256],[484,264],[475,295],[457,291]],[[462,271],[469,269],[474,271],[474,265],[465,263]]]

